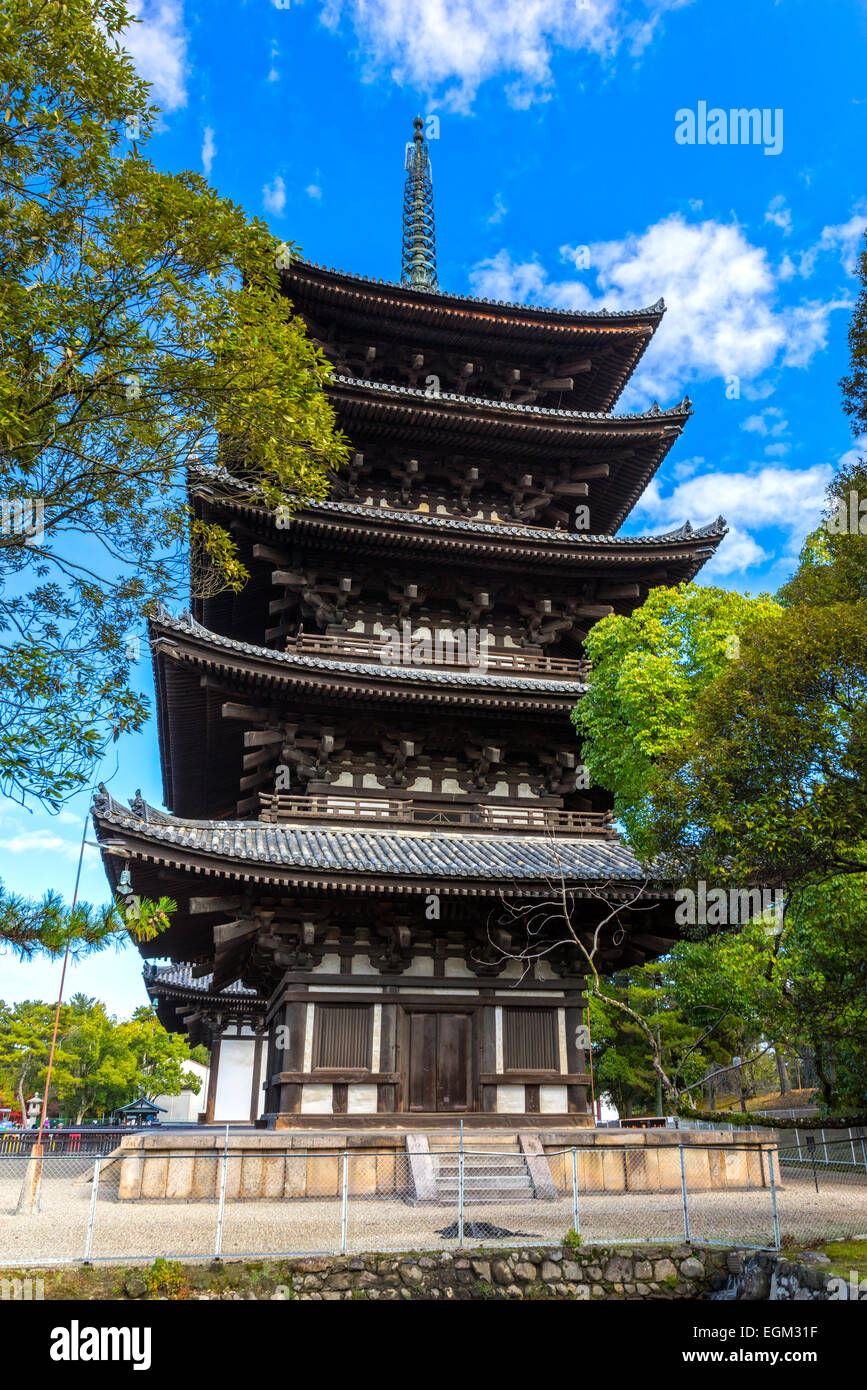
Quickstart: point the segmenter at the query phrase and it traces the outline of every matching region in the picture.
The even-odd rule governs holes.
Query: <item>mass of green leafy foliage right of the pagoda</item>
[[[867,430],[867,250],[860,278],[842,382],[857,431]],[[661,1069],[689,1090],[679,1049],[692,1034],[686,1056],[709,1072],[735,1056],[752,1065],[771,1047],[778,1058],[806,1051],[825,1111],[866,1106],[866,500],[867,467],[848,459],[777,599],[652,591],[586,642],[591,691],[574,721],[642,860],[675,884],[785,890],[782,930],[693,933],[620,981],[656,1031]],[[646,1034],[603,1001],[593,1008],[609,1044],[602,1081],[646,1104]]]

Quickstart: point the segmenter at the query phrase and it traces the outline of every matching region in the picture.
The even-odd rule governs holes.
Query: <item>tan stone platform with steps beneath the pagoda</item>
[[[449,1143],[453,1140],[453,1143]],[[220,1194],[225,1131],[158,1131],[125,1136],[103,1159],[106,1176],[117,1170],[121,1201],[213,1201]],[[236,1131],[228,1136],[226,1200],[275,1201],[333,1198],[346,1172],[350,1195],[443,1201],[440,1168],[454,1166],[456,1130],[422,1136],[392,1129]],[[578,1188],[584,1193],[675,1193],[681,1190],[681,1148],[688,1188],[749,1190],[770,1186],[773,1130],[753,1130],[732,1141],[728,1130],[500,1129],[464,1133],[464,1154],[474,1170],[485,1162],[492,1200],[515,1155],[534,1191],[527,1198],[571,1193],[572,1150]],[[346,1162],[345,1162],[346,1155]],[[499,1175],[499,1177],[497,1177]],[[779,1166],[774,1176],[779,1186]]]

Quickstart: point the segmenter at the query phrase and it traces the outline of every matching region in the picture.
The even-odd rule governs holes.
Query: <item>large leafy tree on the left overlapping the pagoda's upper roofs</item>
[[[158,113],[121,47],[132,22],[117,0],[0,10],[0,791],[49,808],[142,727],[144,621],[190,552],[195,592],[246,581],[189,470],[290,512],[346,456],[279,291],[293,246],[144,157]],[[111,935],[64,910],[0,898],[0,931]]]

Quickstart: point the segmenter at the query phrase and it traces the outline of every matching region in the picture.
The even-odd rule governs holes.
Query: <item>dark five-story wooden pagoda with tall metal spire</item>
[[[617,537],[689,414],[613,409],[664,306],[567,313],[445,295],[429,160],[407,147],[400,284],[296,260],[295,311],[352,439],[285,524],[225,478],[239,595],[151,623],[164,799],[101,794],[117,887],[178,902],[143,945],[170,1029],[213,1049],[207,1119],[589,1125],[574,944],[517,959],[504,902],[575,895],[581,930],[642,873],[581,776],[582,642],[692,578],[722,521]],[[675,937],[670,898],[606,969]]]

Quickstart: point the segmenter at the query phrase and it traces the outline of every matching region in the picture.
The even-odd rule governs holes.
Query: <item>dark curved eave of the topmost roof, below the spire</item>
[[[616,346],[595,368],[582,392],[597,409],[610,410],[641,361],[666,313],[661,300],[647,309],[582,311],[515,304],[472,295],[417,291],[296,260],[282,272],[283,292],[311,318],[327,317],[349,335],[365,328],[389,336],[425,338],[445,350],[481,350],[509,359],[515,350],[550,357],[574,356]]]

